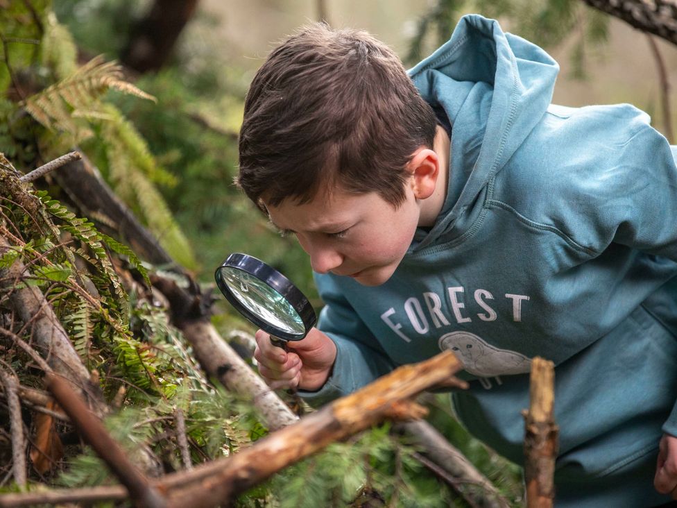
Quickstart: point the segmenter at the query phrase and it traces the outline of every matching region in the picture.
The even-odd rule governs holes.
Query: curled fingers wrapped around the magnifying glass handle
[[[254,358],[266,383],[273,389],[298,387],[302,367],[300,357],[273,346],[270,335],[262,330],[256,332],[255,339]]]

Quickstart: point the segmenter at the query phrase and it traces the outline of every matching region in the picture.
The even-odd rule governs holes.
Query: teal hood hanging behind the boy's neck
[[[461,18],[449,42],[409,70],[423,98],[452,125],[447,202],[412,251],[479,213],[477,198],[546,112],[558,71],[538,46],[479,15]]]

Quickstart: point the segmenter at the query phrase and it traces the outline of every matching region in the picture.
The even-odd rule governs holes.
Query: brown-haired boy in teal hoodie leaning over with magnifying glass
[[[289,353],[257,332],[255,357],[323,403],[450,348],[470,380],[456,413],[515,462],[530,359],[551,359],[557,504],[660,505],[677,495],[677,147],[629,105],[550,105],[557,72],[477,15],[409,74],[361,32],[275,49],[238,182],[298,237],[326,307]]]

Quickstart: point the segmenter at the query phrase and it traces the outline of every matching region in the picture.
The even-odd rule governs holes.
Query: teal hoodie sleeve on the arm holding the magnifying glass
[[[318,391],[298,391],[314,406],[323,405],[369,384],[390,372],[395,364],[361,321],[331,276],[316,276],[325,307],[318,328],[336,344],[332,375]]]

